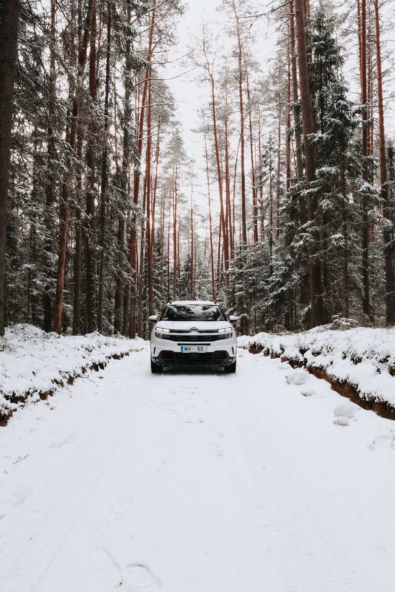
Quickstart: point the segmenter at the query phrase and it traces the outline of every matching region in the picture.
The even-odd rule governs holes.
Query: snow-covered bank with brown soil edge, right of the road
[[[304,367],[361,407],[395,419],[395,328],[258,333],[238,337],[237,345]]]

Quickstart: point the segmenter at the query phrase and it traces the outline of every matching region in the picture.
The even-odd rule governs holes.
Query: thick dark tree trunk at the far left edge
[[[5,243],[19,7],[18,0],[2,0],[0,8],[0,336],[5,326]]]

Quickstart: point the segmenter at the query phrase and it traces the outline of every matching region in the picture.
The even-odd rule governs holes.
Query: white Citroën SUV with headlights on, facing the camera
[[[179,300],[168,303],[151,332],[151,371],[170,364],[216,364],[236,372],[236,332],[214,301]]]

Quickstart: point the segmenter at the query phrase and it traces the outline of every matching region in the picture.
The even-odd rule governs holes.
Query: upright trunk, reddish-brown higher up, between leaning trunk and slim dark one
[[[86,330],[97,330],[95,310],[95,107],[96,107],[96,2],[92,3],[91,39],[89,50],[89,130],[86,164],[89,168],[86,191]]]

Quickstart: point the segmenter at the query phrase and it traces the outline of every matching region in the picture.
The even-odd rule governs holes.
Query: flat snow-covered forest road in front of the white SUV
[[[133,353],[0,428],[1,592],[393,592],[395,422],[237,363]]]

